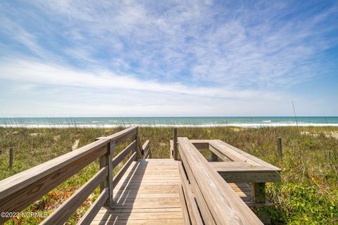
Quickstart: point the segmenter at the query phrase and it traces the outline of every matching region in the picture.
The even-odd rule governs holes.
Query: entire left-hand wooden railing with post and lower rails
[[[132,139],[132,143],[113,158],[116,146],[127,139]],[[149,157],[151,154],[149,141],[146,141],[143,147],[139,141],[138,127],[130,127],[111,136],[101,137],[87,146],[8,177],[0,181],[0,211],[20,212],[24,210],[99,158],[99,171],[42,221],[42,224],[63,224],[101,184],[99,197],[78,222],[78,224],[89,224],[101,206],[113,205],[113,188],[118,184],[132,161],[137,158]],[[113,169],[130,153],[132,153],[130,158],[113,177]],[[0,224],[8,219],[0,217]]]

